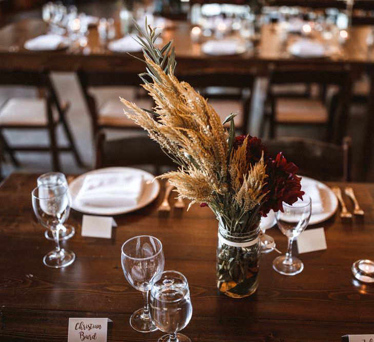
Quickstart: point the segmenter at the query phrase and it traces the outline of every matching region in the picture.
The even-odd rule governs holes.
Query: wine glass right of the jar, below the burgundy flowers
[[[295,275],[300,273],[304,265],[302,261],[292,256],[292,242],[294,237],[300,235],[308,226],[311,214],[311,199],[304,195],[293,205],[283,203],[284,212],[275,214],[277,225],[281,232],[288,238],[286,255],[278,256],[273,261],[273,269],[281,274]]]

